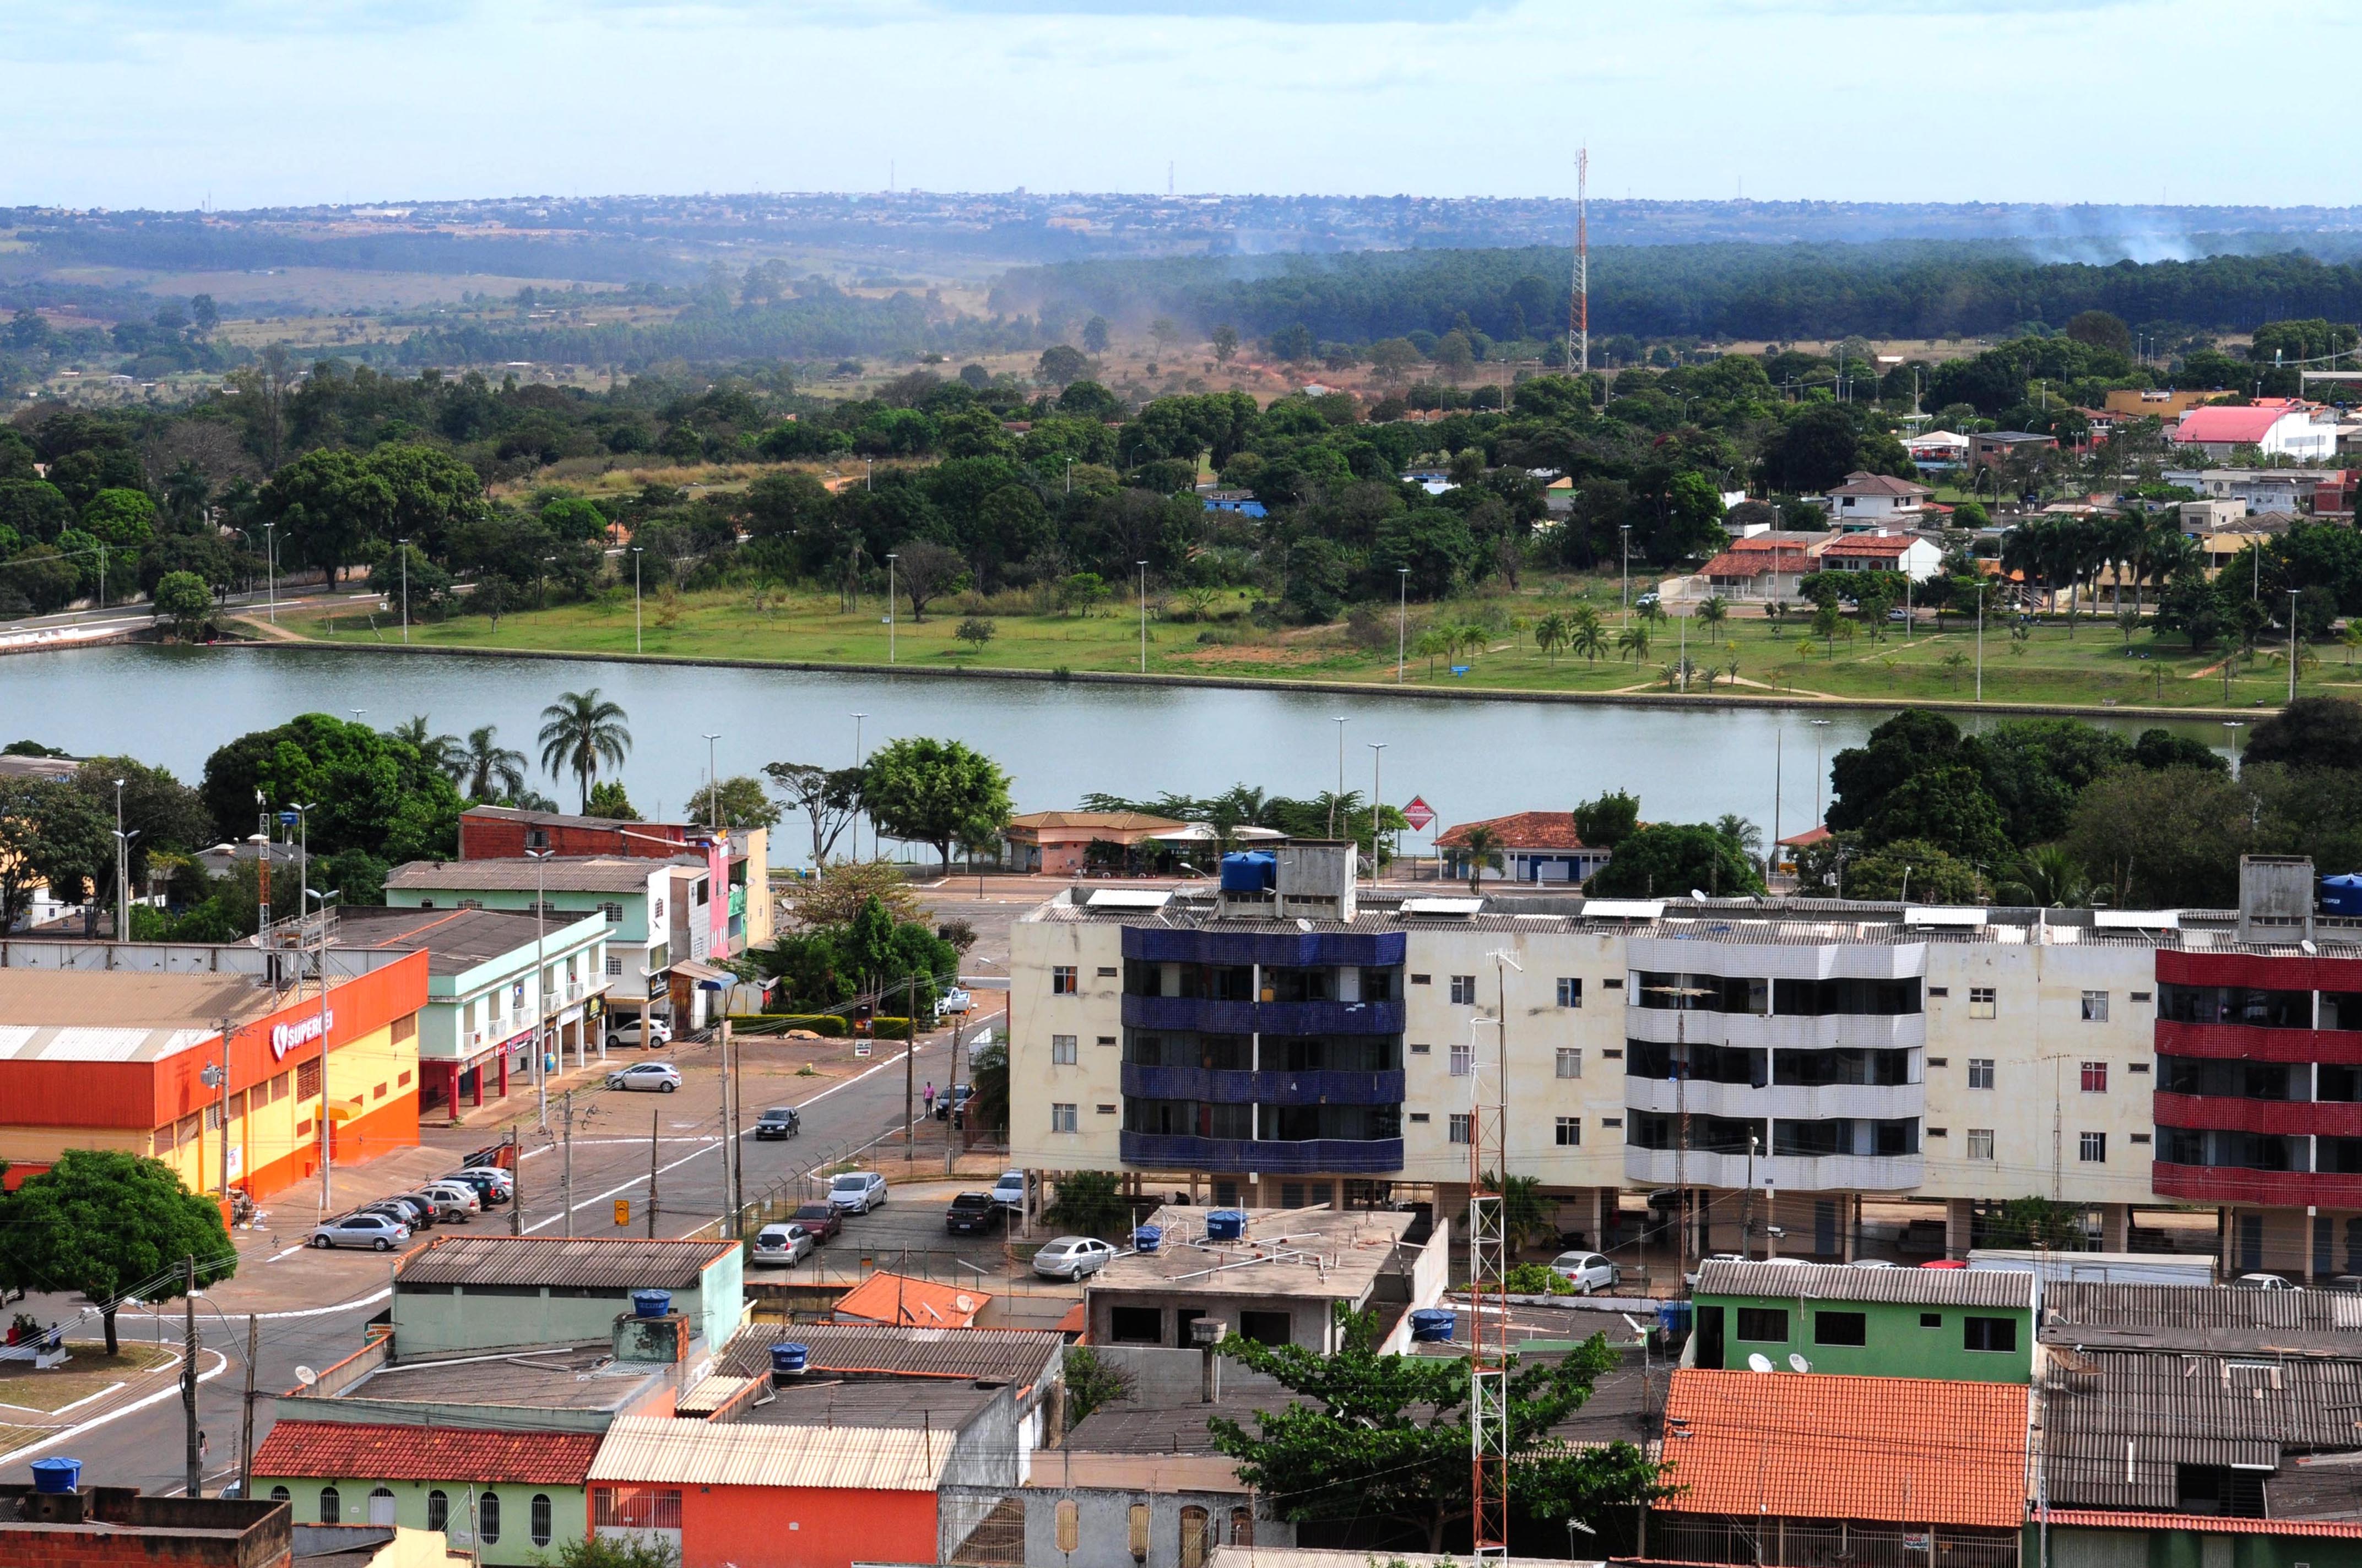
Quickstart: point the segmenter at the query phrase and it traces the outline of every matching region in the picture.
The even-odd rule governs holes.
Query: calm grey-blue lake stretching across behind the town
[[[850,765],[862,749],[933,734],[985,751],[1013,777],[1020,812],[1070,808],[1087,791],[1207,796],[1231,784],[1311,796],[1337,786],[1344,718],[1346,789],[1370,793],[1370,744],[1384,744],[1384,798],[1424,798],[1431,831],[1519,810],[1566,810],[1630,789],[1644,819],[1698,822],[1738,812],[1779,831],[1814,822],[1821,770],[1887,713],[1838,708],[1635,708],[1611,704],[1436,701],[1287,690],[1117,687],[1046,680],[612,664],[602,659],[402,656],[366,649],[239,645],[111,647],[0,659],[0,744],[38,739],[71,753],[130,753],[196,782],[215,746],[295,713],[392,727],[425,713],[437,732],[496,725],[539,758],[541,708],[598,687],[631,713],[624,784],[645,817],[678,812],[706,772],[763,763]],[[855,713],[864,718],[855,725]],[[1814,725],[1812,720],[1826,720]],[[1965,720],[1970,727],[1998,718]],[[2126,737],[2154,720],[2097,720]],[[2216,723],[2166,727],[2227,753]],[[574,808],[572,782],[534,786]],[[1826,784],[1823,784],[1826,789]],[[779,824],[775,862],[810,848],[801,817]],[[1405,836],[1424,850],[1429,834]],[[912,850],[921,855],[924,850]]]

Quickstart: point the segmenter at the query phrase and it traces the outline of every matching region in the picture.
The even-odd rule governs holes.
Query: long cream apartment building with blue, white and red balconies
[[[2135,1207],[2199,1202],[2227,1263],[2362,1268],[2362,945],[2298,947],[2331,940],[2310,867],[2282,878],[2294,926],[1377,900],[1342,867],[1287,845],[1273,888],[1075,890],[1018,921],[1013,1159],[1264,1207],[1408,1185],[1448,1211],[1483,1103],[1505,1169],[1594,1244],[1639,1223],[1627,1195],[1677,1188],[1696,1244],[1736,1249],[1753,1178],[1783,1252],[1849,1256],[1868,1195],[1937,1200],[1958,1256],[1972,1204],[2041,1195],[2095,1211],[2107,1249]],[[2319,1023],[2343,985],[2353,1034]]]

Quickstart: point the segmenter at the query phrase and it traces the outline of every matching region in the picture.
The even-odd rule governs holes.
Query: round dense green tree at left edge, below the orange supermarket
[[[99,1308],[109,1355],[123,1299],[180,1296],[187,1259],[196,1259],[198,1287],[239,1273],[220,1204],[161,1159],[68,1148],[0,1197],[0,1287],[76,1292]]]

